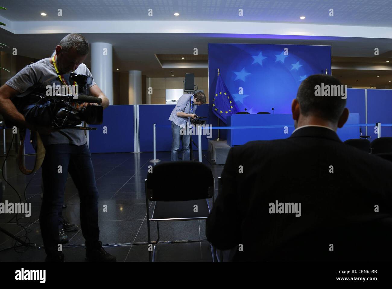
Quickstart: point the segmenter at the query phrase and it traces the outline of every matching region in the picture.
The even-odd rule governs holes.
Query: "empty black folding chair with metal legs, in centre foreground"
[[[175,176],[173,178],[173,176]],[[192,177],[191,177],[192,176]],[[196,179],[194,179],[196,177]],[[214,204],[214,177],[211,169],[197,161],[176,161],[157,164],[152,173],[147,174],[145,182],[147,208],[147,234],[151,243],[150,222],[156,222],[158,238],[149,260],[154,262],[158,243],[201,242],[207,240],[183,240],[159,242],[160,221],[189,221],[207,219],[210,207],[207,199]],[[150,218],[149,201],[155,202]],[[197,208],[197,210],[195,210]],[[212,260],[215,261],[214,248],[210,244]]]

